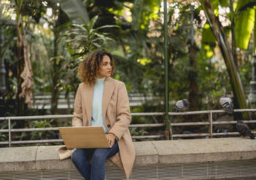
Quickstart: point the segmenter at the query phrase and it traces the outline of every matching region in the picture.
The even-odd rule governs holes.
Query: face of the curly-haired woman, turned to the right
[[[112,73],[111,60],[107,55],[104,55],[104,57],[102,58],[101,67],[98,70],[97,78],[110,77],[111,73]]]

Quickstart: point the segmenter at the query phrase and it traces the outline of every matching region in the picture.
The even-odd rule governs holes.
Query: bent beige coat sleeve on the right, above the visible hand
[[[121,139],[131,123],[131,111],[125,83],[121,83],[117,92],[117,122],[110,129],[109,133],[115,134]]]

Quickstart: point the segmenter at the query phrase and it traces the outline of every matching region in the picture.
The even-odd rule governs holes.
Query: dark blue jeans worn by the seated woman
[[[105,179],[105,161],[119,152],[117,142],[112,148],[76,149],[71,160],[86,180]],[[88,159],[92,156],[91,165]]]

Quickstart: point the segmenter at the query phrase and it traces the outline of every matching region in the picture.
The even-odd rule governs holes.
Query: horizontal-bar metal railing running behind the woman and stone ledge
[[[241,109],[234,110],[234,112],[256,112],[256,109]],[[214,113],[225,113],[224,110],[203,110],[190,111],[185,113],[168,113],[168,115],[202,115],[208,114],[208,121],[205,122],[190,122],[190,123],[170,123],[171,127],[175,126],[209,126],[209,131],[201,134],[171,134],[171,139],[174,137],[192,137],[192,136],[213,136],[220,135],[238,135],[238,132],[213,133],[213,125],[218,124],[234,124],[236,121],[213,121]],[[132,116],[163,116],[164,113],[131,113]],[[53,128],[11,128],[12,120],[39,120],[39,119],[56,119],[56,118],[73,118],[73,115],[35,115],[35,116],[17,116],[17,117],[0,117],[0,120],[8,121],[8,129],[0,129],[0,133],[8,133],[8,142],[0,142],[0,144],[30,144],[30,143],[49,143],[49,142],[63,142],[62,139],[44,139],[44,140],[26,140],[26,141],[12,141],[12,132],[28,132],[28,131],[58,131],[58,127]],[[244,123],[256,123],[256,120],[243,120]],[[163,127],[165,123],[145,123],[145,124],[130,124],[129,128],[149,128],[149,127]],[[252,131],[256,134],[256,131]],[[150,136],[132,136],[133,139],[161,139],[164,135],[150,135]]]

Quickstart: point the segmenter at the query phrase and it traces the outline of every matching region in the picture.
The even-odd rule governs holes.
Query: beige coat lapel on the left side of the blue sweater
[[[85,110],[87,114],[87,118],[89,121],[89,126],[92,118],[92,110],[93,110],[93,86],[85,86],[85,96],[86,99],[84,100],[85,102]]]

